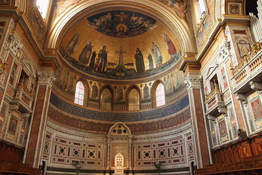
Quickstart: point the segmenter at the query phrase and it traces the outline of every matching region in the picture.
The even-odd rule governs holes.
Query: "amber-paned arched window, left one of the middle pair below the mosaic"
[[[108,88],[104,88],[101,92],[100,109],[102,110],[112,109],[112,93]]]

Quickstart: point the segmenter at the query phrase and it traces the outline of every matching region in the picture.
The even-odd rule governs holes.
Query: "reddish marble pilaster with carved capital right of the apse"
[[[184,83],[187,86],[190,101],[197,168],[203,168],[209,165],[212,159],[204,113],[202,76],[189,74]]]

